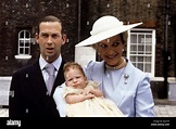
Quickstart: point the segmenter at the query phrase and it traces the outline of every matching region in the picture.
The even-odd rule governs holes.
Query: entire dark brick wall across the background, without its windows
[[[80,1],[80,11],[79,9]],[[165,39],[165,0],[13,0],[0,2],[0,76],[10,76],[17,68],[30,64],[37,59],[39,50],[32,44],[29,61],[17,61],[15,30],[17,27],[30,27],[33,35],[38,18],[48,14],[59,16],[67,34],[68,42],[63,46],[63,57],[74,60],[74,46],[78,40],[87,38],[93,22],[106,14],[115,15],[124,23],[143,22],[140,27],[156,30],[155,76],[163,77],[164,73],[164,39]],[[175,76],[175,31],[176,1],[169,0],[169,22],[167,49],[171,53],[168,76]],[[80,17],[78,18],[78,16]],[[78,21],[80,20],[80,21]],[[80,25],[78,25],[78,22]],[[175,28],[175,29],[174,29]],[[5,68],[4,68],[5,66]]]

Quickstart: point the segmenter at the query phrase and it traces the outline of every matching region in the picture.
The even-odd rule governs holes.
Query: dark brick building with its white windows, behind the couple
[[[61,18],[67,35],[67,42],[62,48],[65,61],[74,61],[74,46],[90,35],[98,17],[114,15],[124,24],[142,22],[128,31],[125,56],[150,73],[154,92],[159,93],[166,85],[165,78],[176,76],[174,0],[1,0],[0,3],[1,77],[11,76],[38,57],[35,28],[40,17],[50,14]]]

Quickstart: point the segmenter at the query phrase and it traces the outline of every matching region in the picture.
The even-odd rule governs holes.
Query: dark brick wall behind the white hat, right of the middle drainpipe
[[[81,39],[89,36],[93,22],[102,15],[117,16],[124,23],[142,22],[142,28],[153,28],[156,30],[155,44],[155,76],[164,75],[164,50],[165,50],[165,0],[85,0],[85,8],[81,9]],[[169,21],[176,13],[176,1],[169,2]],[[168,26],[168,43],[167,49],[171,53],[168,60],[168,76],[175,76],[175,20],[171,21]],[[89,23],[87,25],[87,22]],[[176,27],[175,27],[176,28]]]

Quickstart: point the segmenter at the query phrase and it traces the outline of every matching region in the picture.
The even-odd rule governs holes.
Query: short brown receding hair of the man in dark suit
[[[43,18],[41,18],[38,23],[38,27],[37,27],[37,33],[39,34],[39,26],[41,23],[45,23],[45,22],[59,22],[61,24],[61,27],[62,27],[62,22],[60,18],[58,18],[56,16],[53,16],[53,15],[48,15],[48,16],[45,16]],[[62,33],[62,28],[61,28],[61,33]]]

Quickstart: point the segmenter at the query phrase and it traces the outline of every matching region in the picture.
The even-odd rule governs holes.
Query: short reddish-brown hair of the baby
[[[77,68],[77,69],[79,69],[83,73],[83,75],[86,77],[85,72],[84,72],[84,69],[83,69],[80,64],[78,64],[76,62],[67,62],[63,66],[63,72],[66,73],[66,72],[70,70],[70,68]]]

